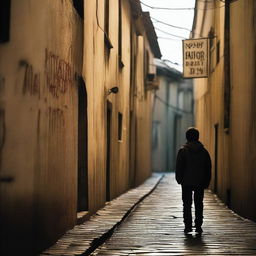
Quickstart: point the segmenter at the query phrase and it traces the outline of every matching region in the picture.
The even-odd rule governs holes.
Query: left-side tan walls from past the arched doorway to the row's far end
[[[104,43],[102,31],[105,22],[104,2],[98,1],[97,4],[96,1],[88,1],[85,6],[86,64],[83,76],[88,91],[88,137],[91,138],[89,156],[92,157],[88,162],[91,212],[101,207],[106,198],[107,102],[111,105],[110,198],[113,199],[125,192],[130,185],[140,184],[151,173],[152,96],[151,92],[145,90],[145,48],[149,51],[150,59],[153,59],[153,55],[145,40],[145,32],[142,36],[137,35],[129,1],[121,1],[122,48],[121,51],[118,49],[118,2],[110,1],[108,37],[113,46],[111,49]],[[115,86],[119,89],[118,93],[108,95],[108,90]],[[121,140],[118,138],[118,114],[122,115]],[[96,200],[93,200],[95,197]]]

